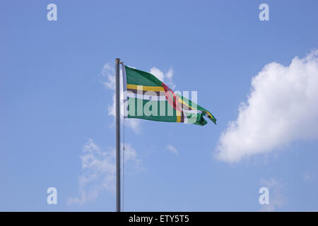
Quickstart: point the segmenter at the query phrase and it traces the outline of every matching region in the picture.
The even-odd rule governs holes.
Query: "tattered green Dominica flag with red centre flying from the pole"
[[[153,74],[124,64],[122,72],[125,117],[200,126],[207,124],[204,117],[208,117],[216,124],[211,112],[189,100],[189,97],[173,92]]]

